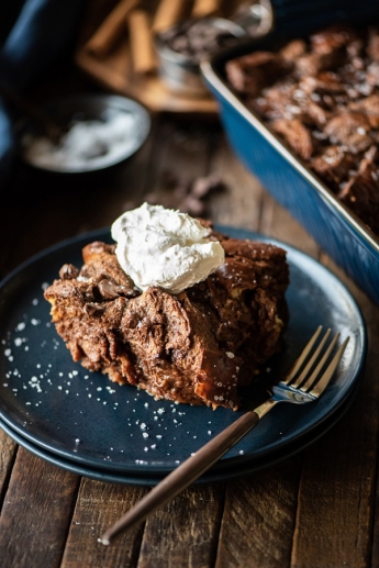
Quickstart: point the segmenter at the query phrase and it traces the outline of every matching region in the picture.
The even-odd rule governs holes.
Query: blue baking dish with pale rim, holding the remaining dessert
[[[379,237],[341,203],[263,121],[233,92],[225,63],[255,49],[276,48],[285,37],[266,36],[215,55],[201,65],[215,97],[232,148],[272,197],[319,245],[379,304]],[[288,41],[288,37],[286,38]],[[286,235],[282,235],[283,238]]]

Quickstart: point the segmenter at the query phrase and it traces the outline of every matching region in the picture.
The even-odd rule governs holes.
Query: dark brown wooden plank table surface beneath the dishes
[[[167,172],[180,182],[218,172],[225,189],[205,203],[214,222],[278,237],[337,274],[367,324],[361,389],[300,454],[238,480],[190,487],[110,547],[99,535],[148,489],[79,477],[0,431],[0,566],[378,567],[379,310],[244,169],[216,120],[157,114],[143,148],[94,179],[52,180],[20,167],[2,196],[1,277],[54,243],[109,226],[146,194],[172,199]]]

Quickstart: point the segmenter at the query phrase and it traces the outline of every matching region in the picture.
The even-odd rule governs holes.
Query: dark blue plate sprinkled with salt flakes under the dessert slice
[[[350,342],[338,371],[320,401],[306,408],[279,405],[212,471],[233,475],[285,454],[336,419],[358,385],[366,354],[365,324],[346,288],[319,263],[275,240],[232,227],[233,236],[259,238],[288,250],[290,323],[285,347],[259,382],[246,391],[246,408],[267,397],[313,330],[322,324]],[[111,383],[71,360],[49,323],[43,289],[65,263],[81,265],[81,248],[110,242],[109,230],[66,241],[33,257],[0,285],[0,417],[11,431],[42,450],[87,468],[137,478],[172,470],[243,412],[156,401],[131,386]],[[309,443],[309,442],[308,442]]]

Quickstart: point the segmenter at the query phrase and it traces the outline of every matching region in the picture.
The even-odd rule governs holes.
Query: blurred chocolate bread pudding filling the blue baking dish
[[[246,105],[379,234],[378,153],[366,163],[379,143],[378,26],[334,26],[233,59],[225,71]]]

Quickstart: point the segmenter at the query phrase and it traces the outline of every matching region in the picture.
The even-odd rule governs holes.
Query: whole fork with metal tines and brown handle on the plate
[[[255,410],[243,414],[171,471],[134,508],[111,526],[99,538],[99,542],[109,545],[113,537],[131,528],[136,523],[144,521],[156,509],[174,499],[226,454],[279,402],[304,404],[317,400],[333,377],[349,339],[347,337],[332,359],[328,360],[338,341],[339,333],[334,336],[326,350],[323,352],[331,335],[331,330],[326,331],[315,347],[321,332],[322,326],[320,325],[286,378],[272,388],[272,396],[267,401]],[[312,353],[313,347],[315,348]]]

